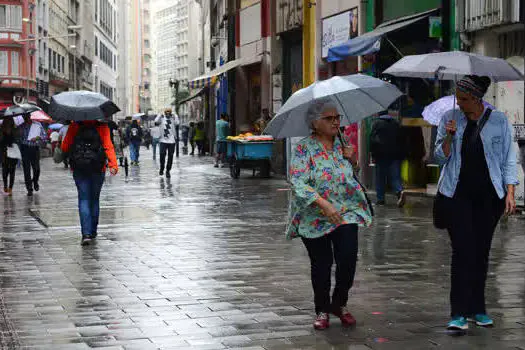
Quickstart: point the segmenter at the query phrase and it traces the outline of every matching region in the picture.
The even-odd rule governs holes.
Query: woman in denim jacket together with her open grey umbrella
[[[434,202],[434,225],[452,245],[451,320],[462,334],[472,321],[492,326],[485,285],[492,238],[502,214],[515,211],[518,184],[513,131],[504,113],[483,103],[491,80],[523,80],[507,61],[453,51],[406,56],[384,72],[398,77],[454,80],[455,99],[439,121],[435,158],[443,166]]]

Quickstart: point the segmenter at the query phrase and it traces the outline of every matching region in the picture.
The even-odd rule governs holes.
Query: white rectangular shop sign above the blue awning
[[[322,56],[328,56],[328,50],[344,44],[358,35],[359,18],[357,7],[341,14],[323,19]]]

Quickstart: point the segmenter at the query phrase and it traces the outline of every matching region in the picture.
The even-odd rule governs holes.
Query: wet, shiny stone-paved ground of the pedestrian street
[[[525,349],[525,221],[494,240],[493,329],[444,331],[449,246],[430,209],[380,208],[360,232],[354,329],[312,329],[308,258],[283,238],[286,183],[209,159],[149,153],[108,179],[96,245],[80,247],[68,171],[43,161],[41,191],[0,198],[0,331],[6,349]]]

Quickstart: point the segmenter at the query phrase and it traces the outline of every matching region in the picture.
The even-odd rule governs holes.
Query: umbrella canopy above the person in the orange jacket
[[[67,91],[51,98],[49,114],[55,120],[107,119],[120,109],[106,96],[91,91]]]

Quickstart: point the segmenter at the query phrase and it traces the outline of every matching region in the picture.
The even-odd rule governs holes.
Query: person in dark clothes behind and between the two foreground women
[[[370,133],[370,149],[376,163],[377,204],[385,205],[387,179],[397,196],[397,205],[405,205],[405,194],[401,183],[401,161],[403,159],[402,129],[397,120],[383,112]]]

